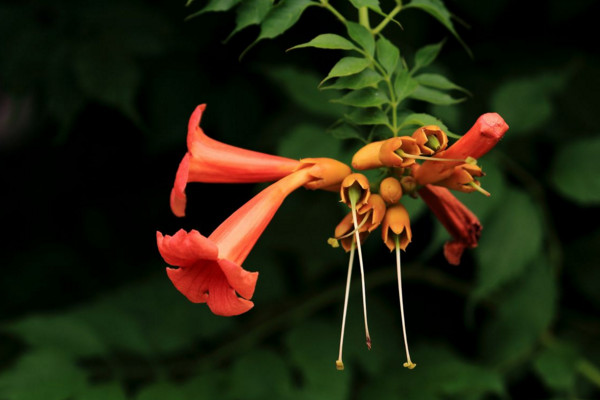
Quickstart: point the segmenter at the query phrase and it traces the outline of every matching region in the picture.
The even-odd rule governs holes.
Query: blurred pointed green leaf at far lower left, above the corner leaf
[[[106,354],[97,334],[82,321],[68,316],[31,316],[7,328],[28,345],[51,349],[69,357]]]

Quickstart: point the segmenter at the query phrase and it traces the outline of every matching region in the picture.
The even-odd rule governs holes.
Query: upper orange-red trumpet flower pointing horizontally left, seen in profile
[[[200,128],[206,104],[196,107],[188,123],[188,152],[181,160],[171,191],[171,210],[185,215],[185,187],[189,182],[257,183],[281,179],[300,168],[290,158],[230,146],[209,138]]]

